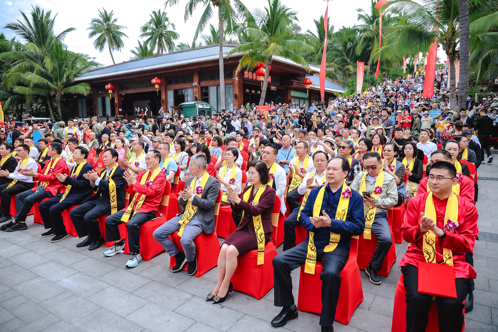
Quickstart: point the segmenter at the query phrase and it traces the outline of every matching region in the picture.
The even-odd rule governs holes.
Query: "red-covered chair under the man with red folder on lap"
[[[432,301],[429,310],[429,320],[427,321],[427,328],[425,332],[438,332],[439,331],[439,317],[436,308],[436,300]],[[465,309],[463,310],[465,315]],[[404,288],[403,275],[399,277],[396,285],[396,293],[394,295],[394,311],[392,313],[392,327],[391,332],[406,331],[406,290]],[[465,320],[462,332],[465,331]]]

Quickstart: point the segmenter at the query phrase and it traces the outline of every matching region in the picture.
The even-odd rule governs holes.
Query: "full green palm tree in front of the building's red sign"
[[[261,89],[259,105],[264,104],[266,88],[271,61],[275,56],[288,58],[303,66],[307,71],[310,67],[306,60],[298,53],[311,53],[315,49],[308,45],[305,40],[307,35],[293,33],[289,25],[297,20],[297,12],[290,10],[280,0],[268,0],[268,7],[264,11],[254,10],[254,25],[248,26],[249,41],[232,49],[228,55],[244,54],[237,67],[237,72],[248,68],[252,70],[258,62],[266,64],[268,70],[264,72],[264,80]]]

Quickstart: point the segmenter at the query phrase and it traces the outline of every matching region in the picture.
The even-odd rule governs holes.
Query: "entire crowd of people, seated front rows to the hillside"
[[[283,252],[273,259],[274,327],[297,318],[291,270],[304,265],[323,271],[322,331],[333,331],[340,271],[351,238],[377,241],[365,272],[374,285],[392,246],[387,211],[406,206],[401,233],[411,243],[400,262],[406,288],[407,331],[425,331],[431,296],[417,288],[419,264],[452,265],[457,298],[440,296],[440,331],[461,331],[462,310],[473,306],[472,251],[477,237],[477,168],[493,161],[497,145],[498,99],[467,107],[449,104],[447,77],[439,70],[434,95],[421,97],[423,73],[387,80],[362,94],[337,97],[329,105],[269,103],[269,111],[242,105],[213,117],[175,119],[162,108],[155,119],[138,117],[98,123],[69,119],[15,123],[1,129],[0,231],[28,228],[38,209],[42,237],[68,236],[62,212],[89,250],[115,244],[105,256],[124,253],[126,267],[140,256],[140,225],[160,216],[166,181],[184,183],[169,204],[179,213],[153,233],[172,258],[173,273],[197,271],[194,239],[215,232],[214,206],[230,205],[236,230],[218,259],[218,282],[206,300],[219,304],[232,291],[237,257],[257,250],[262,264],[271,241],[272,208],[279,197]],[[246,172],[247,182],[243,183]],[[125,194],[129,194],[125,202]],[[15,215],[10,214],[15,195]],[[287,206],[289,211],[287,211]],[[105,232],[98,218],[105,216]],[[126,224],[127,236],[119,226]],[[296,227],[307,230],[296,243]],[[170,235],[178,232],[179,248]],[[437,245],[436,245],[437,243]],[[260,261],[261,259],[261,261]],[[437,265],[437,264],[436,264]],[[441,327],[444,327],[441,329]]]

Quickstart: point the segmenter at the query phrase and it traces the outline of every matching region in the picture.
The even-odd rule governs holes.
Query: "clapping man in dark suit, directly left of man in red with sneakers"
[[[83,242],[76,245],[78,248],[90,246],[89,250],[95,250],[104,244],[105,241],[100,233],[97,218],[106,214],[113,214],[113,212],[116,213],[124,208],[126,180],[123,177],[124,168],[117,164],[118,158],[116,150],[107,149],[102,154],[104,165],[107,168],[103,169],[100,174],[93,169],[83,174],[85,178],[90,180],[96,194],[89,201],[69,212],[78,236],[84,237],[88,235]],[[114,181],[114,189],[112,190],[112,186],[109,185],[110,178]],[[111,198],[111,193],[113,193],[113,198]],[[114,208],[111,206],[111,201],[116,202]]]

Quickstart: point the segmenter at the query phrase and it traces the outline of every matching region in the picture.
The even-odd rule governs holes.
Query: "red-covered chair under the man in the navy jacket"
[[[348,261],[340,273],[342,277],[341,288],[339,289],[339,302],[337,303],[335,317],[336,321],[346,325],[349,324],[356,307],[363,302],[362,278],[356,263],[357,252],[358,240],[352,238]],[[322,264],[320,262],[316,262],[315,274],[304,273],[304,265],[301,266],[297,300],[298,310],[317,314],[322,312],[321,272]]]

